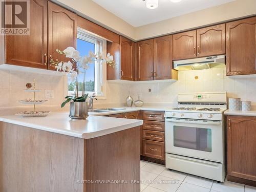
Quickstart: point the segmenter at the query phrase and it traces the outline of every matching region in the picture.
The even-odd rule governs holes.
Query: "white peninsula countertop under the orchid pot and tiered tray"
[[[71,120],[68,112],[52,112],[46,117],[1,116],[0,121],[38,130],[90,139],[140,126],[143,120],[89,115],[86,120]]]

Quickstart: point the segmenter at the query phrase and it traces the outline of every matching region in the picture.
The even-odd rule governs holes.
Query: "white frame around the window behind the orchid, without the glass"
[[[77,38],[91,42],[95,44],[94,53],[102,53],[106,55],[106,39],[97,34],[94,34],[90,31],[77,28]],[[89,96],[92,96],[93,93],[96,94],[97,99],[106,99],[106,63],[105,61],[95,61],[95,92],[86,92],[89,93]],[[74,91],[68,90],[68,76],[66,75],[65,87],[67,87],[66,93],[68,95],[74,95]],[[81,91],[78,92],[81,95]]]

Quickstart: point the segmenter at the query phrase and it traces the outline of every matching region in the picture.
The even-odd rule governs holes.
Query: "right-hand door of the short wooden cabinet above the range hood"
[[[197,30],[197,56],[221,55],[226,52],[226,24]]]

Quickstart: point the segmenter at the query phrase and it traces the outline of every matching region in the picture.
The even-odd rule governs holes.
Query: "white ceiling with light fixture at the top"
[[[142,0],[92,1],[132,26],[139,27],[235,0],[182,0],[179,3],[172,3],[170,0],[158,0],[157,9],[147,9]]]

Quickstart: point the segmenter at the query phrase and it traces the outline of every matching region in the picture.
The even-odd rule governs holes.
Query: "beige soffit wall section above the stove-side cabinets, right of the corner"
[[[136,39],[150,38],[253,14],[256,14],[255,0],[237,0],[154,24],[137,27],[135,29],[135,36]]]

